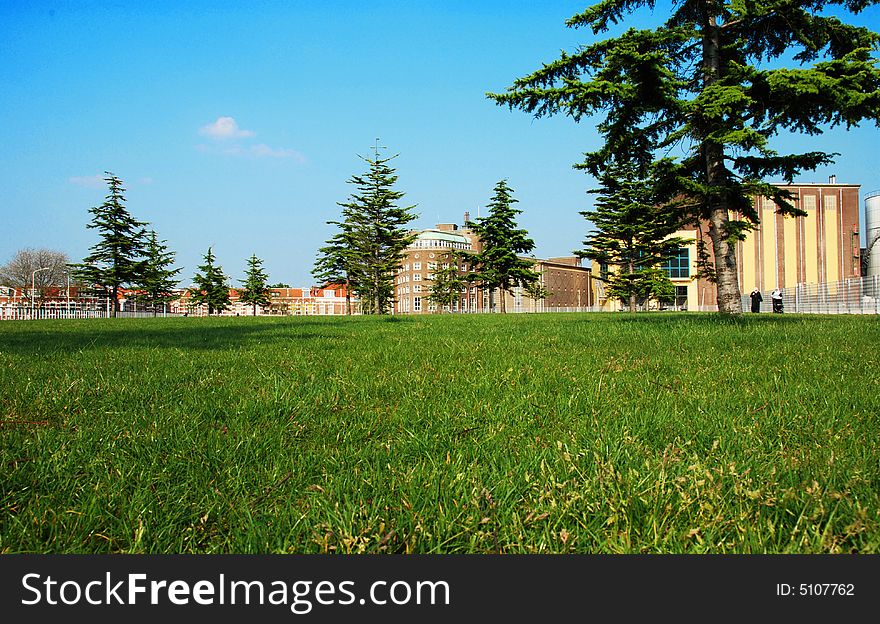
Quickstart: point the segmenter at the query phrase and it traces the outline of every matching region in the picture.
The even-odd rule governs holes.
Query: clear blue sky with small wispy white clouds
[[[461,223],[506,178],[539,257],[589,224],[588,121],[485,97],[592,42],[565,20],[589,2],[38,2],[0,0],[0,263],[47,247],[82,259],[88,209],[123,179],[131,213],[177,252],[182,284],[208,246],[233,283],[253,253],[307,286],[328,220],[376,138],[416,227]],[[880,30],[875,7],[859,23]],[[802,176],[880,189],[873,125],[791,137],[840,152]]]

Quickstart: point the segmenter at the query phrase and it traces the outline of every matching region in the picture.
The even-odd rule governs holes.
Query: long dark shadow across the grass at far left
[[[224,350],[267,342],[282,345],[285,341],[339,340],[339,332],[333,331],[332,325],[330,320],[247,317],[10,321],[0,326],[0,352],[37,354],[131,347]]]

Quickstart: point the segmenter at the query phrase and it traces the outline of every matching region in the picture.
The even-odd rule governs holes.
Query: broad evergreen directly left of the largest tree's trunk
[[[681,227],[674,212],[665,209],[650,177],[639,175],[632,161],[611,163],[599,178],[595,209],[581,214],[596,228],[583,251],[598,262],[610,297],[635,312],[640,302],[666,299],[674,292],[658,265],[676,254],[687,240],[672,236]]]

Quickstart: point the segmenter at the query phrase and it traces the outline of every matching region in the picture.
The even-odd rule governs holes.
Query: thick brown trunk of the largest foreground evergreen
[[[716,82],[721,75],[721,26],[718,17],[711,13],[712,3],[704,3],[703,22],[703,72],[704,88]],[[723,189],[727,185],[727,173],[724,167],[724,146],[716,141],[705,138],[708,135],[705,125],[700,124],[702,145],[701,151],[706,167],[706,183],[710,191]],[[709,236],[712,239],[712,251],[715,254],[716,298],[718,312],[723,315],[742,313],[740,301],[739,277],[736,270],[736,245],[730,239],[727,224],[730,215],[724,203],[723,193],[710,192],[708,197]]]

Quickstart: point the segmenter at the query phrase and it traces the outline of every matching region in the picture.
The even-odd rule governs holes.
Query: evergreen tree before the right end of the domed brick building
[[[522,210],[513,207],[519,200],[512,193],[507,180],[499,181],[486,206],[489,214],[465,224],[479,236],[482,245],[482,250],[469,258],[470,279],[490,293],[495,289],[501,291],[501,312],[507,311],[506,293],[515,286],[525,287],[538,280],[538,274],[532,269],[534,261],[518,255],[532,251],[535,242],[526,230],[516,226],[516,215]]]

